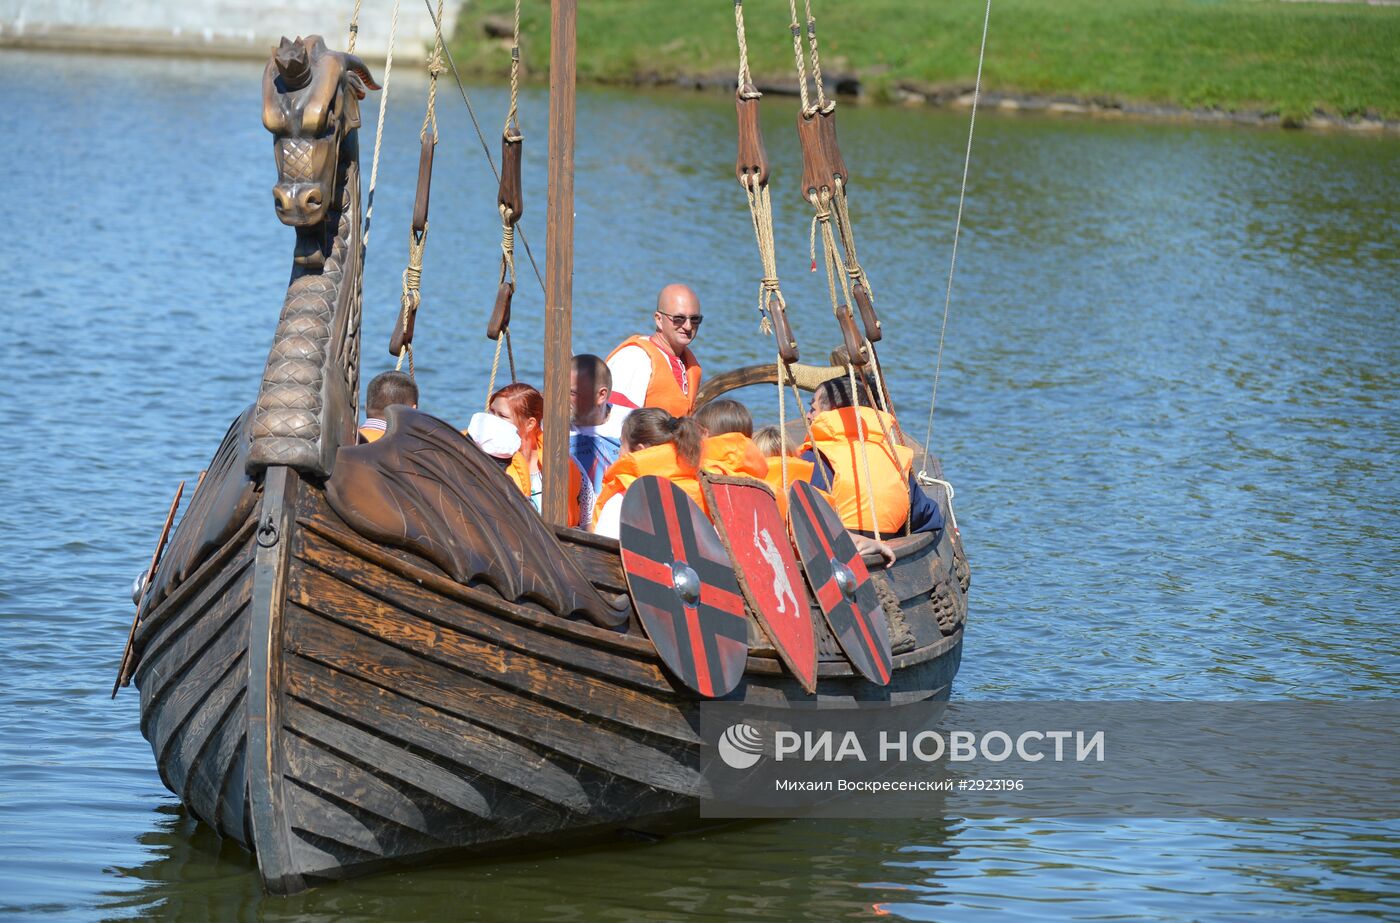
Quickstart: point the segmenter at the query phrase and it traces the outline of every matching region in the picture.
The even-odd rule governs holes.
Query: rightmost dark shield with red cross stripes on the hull
[[[836,510],[805,480],[788,487],[788,521],[816,604],[851,665],[883,686],[893,660],[889,625],[865,562]]]

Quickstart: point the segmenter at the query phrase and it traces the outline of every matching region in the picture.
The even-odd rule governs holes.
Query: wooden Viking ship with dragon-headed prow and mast
[[[547,304],[564,326],[547,338],[546,401],[563,413],[568,3],[556,1],[553,42]],[[284,42],[267,66],[277,213],[297,234],[291,282],[256,401],[150,574],[120,678],[140,689],[164,783],[246,847],[277,894],[449,854],[683,829],[707,794],[704,699],[644,630],[617,541],[552,525],[560,517],[540,517],[497,464],[426,413],[392,408],[386,436],[356,444],[356,129],[372,88],[360,59],[319,38]],[[780,366],[798,381],[822,371],[738,370],[700,399],[777,382]],[[546,447],[559,451],[557,438]],[[942,486],[928,490],[951,518]],[[896,563],[871,569],[892,640],[888,683],[853,668],[808,601],[815,690],[750,620],[742,678],[722,698],[946,698],[966,616],[956,531],[890,545]]]

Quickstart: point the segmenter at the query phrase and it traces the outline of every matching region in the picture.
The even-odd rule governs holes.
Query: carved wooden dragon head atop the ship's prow
[[[263,125],[273,134],[283,224],[311,227],[335,204],[346,134],[360,127],[360,99],[378,90],[354,55],[326,49],[319,35],[281,39],[263,71]]]

